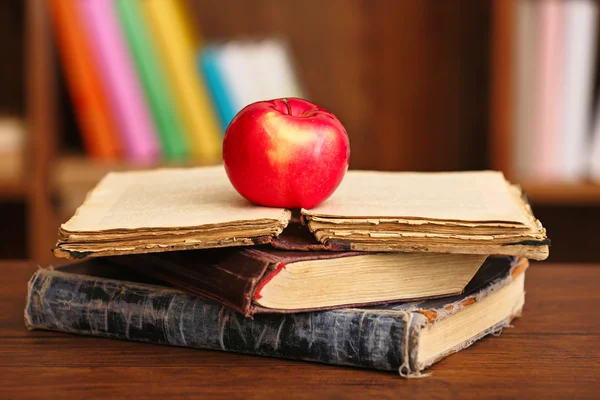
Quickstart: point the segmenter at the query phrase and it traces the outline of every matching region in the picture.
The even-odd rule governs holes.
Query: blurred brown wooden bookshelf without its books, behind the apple
[[[25,22],[26,94],[17,112],[26,117],[27,147],[22,178],[0,181],[0,208],[15,201],[25,205],[25,243],[18,244],[25,250],[18,253],[48,262],[57,227],[87,190],[110,170],[135,167],[85,156],[44,2],[15,4],[11,7],[21,10]],[[498,162],[509,150],[502,139],[497,143],[496,133],[497,125],[506,127],[508,121],[498,122],[489,112],[498,78],[498,55],[490,58],[498,16],[493,1],[190,0],[185,5],[207,41],[285,37],[310,99],[347,127],[351,168],[504,170],[522,185],[547,226],[555,241],[552,259],[600,259],[581,239],[591,237],[600,223],[598,185],[527,181]]]

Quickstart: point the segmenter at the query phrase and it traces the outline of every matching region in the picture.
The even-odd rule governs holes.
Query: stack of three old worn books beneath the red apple
[[[115,172],[29,282],[28,327],[419,376],[521,315],[545,229],[494,171],[350,171],[307,210],[222,166]]]

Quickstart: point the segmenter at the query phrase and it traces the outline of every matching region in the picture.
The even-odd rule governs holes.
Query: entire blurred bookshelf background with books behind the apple
[[[351,168],[500,169],[598,262],[594,0],[4,0],[0,259],[52,261],[110,170],[218,162],[249,102],[336,114]]]

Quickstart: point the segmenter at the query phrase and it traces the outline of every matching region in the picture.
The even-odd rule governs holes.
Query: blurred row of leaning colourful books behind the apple
[[[233,116],[304,97],[284,41],[203,46],[180,0],[46,0],[87,155],[215,164]]]

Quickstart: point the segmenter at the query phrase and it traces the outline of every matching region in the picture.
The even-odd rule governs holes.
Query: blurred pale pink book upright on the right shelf
[[[534,82],[532,175],[556,180],[560,168],[564,3],[537,2],[539,7],[537,63]]]

